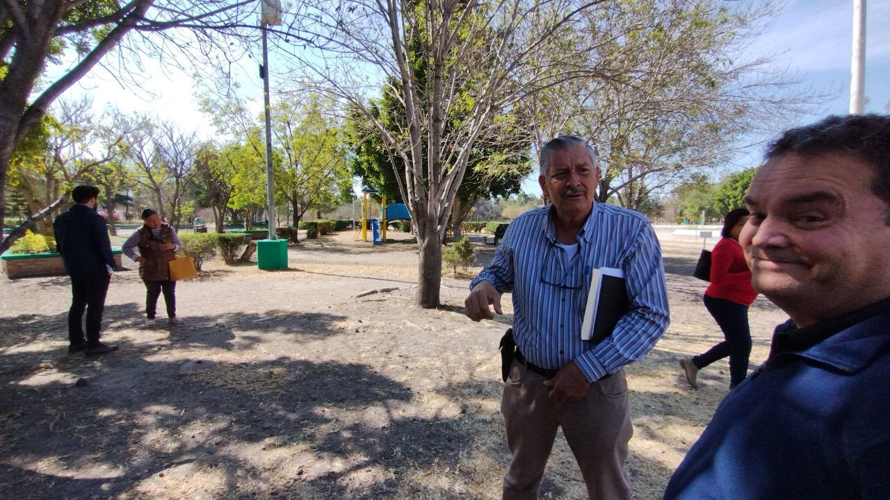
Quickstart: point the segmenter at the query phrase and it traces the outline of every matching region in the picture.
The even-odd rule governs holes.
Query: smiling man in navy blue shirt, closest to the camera
[[[890,498],[890,117],[828,117],[766,157],[740,243],[790,319],[665,498]]]

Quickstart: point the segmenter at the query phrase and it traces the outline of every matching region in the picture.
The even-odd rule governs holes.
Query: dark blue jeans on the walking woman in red
[[[717,359],[729,356],[730,388],[739,385],[748,376],[748,358],[751,355],[751,330],[748,327],[748,306],[738,302],[704,296],[705,307],[724,333],[724,342],[707,352],[692,358],[697,368],[707,367]]]

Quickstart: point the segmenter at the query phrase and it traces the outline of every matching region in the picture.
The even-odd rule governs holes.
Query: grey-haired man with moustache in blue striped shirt
[[[470,319],[490,319],[490,306],[500,314],[501,294],[513,292],[516,351],[501,399],[513,455],[504,498],[538,497],[562,426],[588,495],[629,499],[624,462],[633,429],[623,367],[642,359],[667,328],[659,242],[642,214],[595,202],[600,170],[587,141],[549,141],[539,163],[538,182],[552,206],[510,224],[465,302]],[[623,271],[629,309],[595,343],[582,340],[581,324],[591,272],[599,268]]]

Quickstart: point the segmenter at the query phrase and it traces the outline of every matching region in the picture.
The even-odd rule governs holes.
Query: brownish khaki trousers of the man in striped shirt
[[[629,500],[624,472],[627,441],[634,431],[627,402],[627,380],[621,369],[591,383],[584,399],[557,406],[546,379],[515,361],[501,398],[507,446],[513,459],[504,477],[505,500],[536,500],[557,429],[587,483],[591,500]]]

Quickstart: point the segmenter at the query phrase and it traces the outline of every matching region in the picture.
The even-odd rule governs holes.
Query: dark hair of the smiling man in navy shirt
[[[875,178],[871,192],[884,201],[885,222],[890,225],[890,115],[831,116],[792,128],[770,144],[766,158],[790,153],[802,157],[849,155],[872,165]]]

